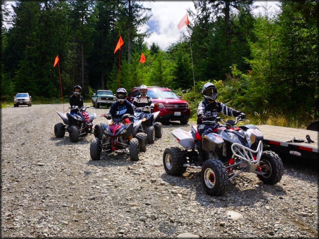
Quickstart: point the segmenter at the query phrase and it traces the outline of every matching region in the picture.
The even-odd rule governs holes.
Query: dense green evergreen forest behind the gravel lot
[[[260,123],[319,119],[317,0],[279,1],[277,14],[265,7],[258,16],[251,0],[193,4],[189,34],[163,50],[146,44],[151,33],[138,31],[152,15],[143,1],[17,1],[12,27],[1,28],[1,100],[17,92],[29,92],[33,101],[61,98],[56,55],[65,99],[76,84],[87,99],[97,89],[116,91],[121,34],[121,85],[128,91],[142,83],[169,87],[189,101],[194,116],[201,87],[210,81],[219,101]],[[1,0],[1,21],[8,18]]]

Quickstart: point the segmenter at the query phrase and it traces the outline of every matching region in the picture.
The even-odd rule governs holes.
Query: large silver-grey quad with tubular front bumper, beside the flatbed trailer
[[[211,116],[212,117],[212,116]],[[163,155],[168,175],[182,175],[186,168],[201,169],[201,182],[209,195],[222,195],[228,182],[241,172],[256,173],[264,184],[276,184],[283,175],[283,163],[273,151],[263,151],[263,134],[254,125],[236,126],[243,120],[224,121],[213,117],[204,123],[223,121],[225,125],[207,135],[199,135],[197,125],[186,132],[180,128],[172,134],[185,148],[166,148]],[[211,119],[211,118],[210,118]],[[203,150],[199,160],[197,150]]]

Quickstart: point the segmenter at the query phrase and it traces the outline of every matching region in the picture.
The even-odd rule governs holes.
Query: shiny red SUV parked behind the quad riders
[[[136,96],[140,95],[139,87],[134,87],[127,99],[133,103]],[[160,111],[157,120],[179,120],[181,124],[187,124],[190,117],[190,109],[186,100],[182,100],[167,87],[149,86],[147,95],[152,97],[154,112]]]

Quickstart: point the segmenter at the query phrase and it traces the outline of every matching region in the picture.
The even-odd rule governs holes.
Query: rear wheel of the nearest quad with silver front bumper
[[[185,153],[181,148],[166,148],[163,154],[164,169],[168,175],[182,175],[186,168],[183,164],[186,162]]]

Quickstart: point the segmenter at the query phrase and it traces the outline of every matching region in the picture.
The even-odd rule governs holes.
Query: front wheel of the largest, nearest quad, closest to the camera
[[[228,185],[226,167],[218,159],[206,160],[201,171],[201,181],[207,194],[212,196],[223,194]]]

